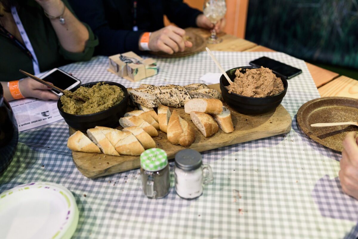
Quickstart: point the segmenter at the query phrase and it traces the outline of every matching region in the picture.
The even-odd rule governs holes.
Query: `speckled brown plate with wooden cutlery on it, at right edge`
[[[314,123],[358,121],[358,99],[347,97],[323,97],[303,104],[296,117],[299,127],[313,141],[342,152],[342,141],[350,131],[358,133],[353,125],[311,127]]]

